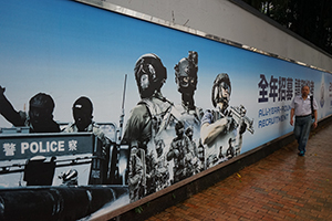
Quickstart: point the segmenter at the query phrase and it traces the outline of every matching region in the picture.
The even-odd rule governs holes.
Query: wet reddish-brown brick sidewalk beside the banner
[[[147,221],[332,220],[332,124]]]

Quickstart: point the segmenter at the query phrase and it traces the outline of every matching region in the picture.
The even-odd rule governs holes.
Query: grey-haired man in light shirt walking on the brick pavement
[[[309,93],[309,86],[302,86],[301,95],[295,96],[291,103],[290,124],[293,126],[293,116],[295,115],[294,135],[299,144],[299,156],[304,156],[305,154],[305,146],[309,138],[311,125],[313,126],[313,128],[317,127],[318,105],[314,98],[310,98]],[[313,108],[311,108],[311,102]],[[313,124],[311,117],[312,112],[314,116]]]

